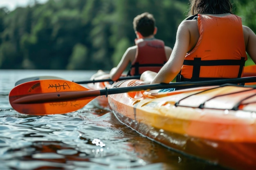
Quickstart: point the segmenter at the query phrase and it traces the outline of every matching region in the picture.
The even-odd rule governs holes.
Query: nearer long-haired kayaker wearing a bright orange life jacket
[[[243,76],[247,54],[256,63],[256,35],[231,10],[229,0],[190,0],[190,17],[177,29],[169,60],[133,85],[169,83],[178,73],[178,81]]]

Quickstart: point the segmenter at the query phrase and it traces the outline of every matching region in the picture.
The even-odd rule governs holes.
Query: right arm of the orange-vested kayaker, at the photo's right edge
[[[243,26],[246,52],[256,64],[256,35],[248,26]]]

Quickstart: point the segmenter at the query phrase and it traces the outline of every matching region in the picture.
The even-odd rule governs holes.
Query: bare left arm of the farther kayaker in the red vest
[[[110,71],[110,79],[116,81],[122,75],[129,62],[132,62],[136,55],[136,46],[129,47],[121,58],[117,67],[114,67]]]

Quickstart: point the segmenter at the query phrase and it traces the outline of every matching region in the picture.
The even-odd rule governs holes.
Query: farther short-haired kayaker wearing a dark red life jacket
[[[162,40],[156,39],[155,18],[145,12],[137,15],[133,20],[133,28],[137,39],[135,45],[129,47],[121,58],[117,67],[110,71],[110,79],[116,81],[131,63],[127,75],[141,75],[144,71],[158,72],[169,59],[172,49],[165,46]]]

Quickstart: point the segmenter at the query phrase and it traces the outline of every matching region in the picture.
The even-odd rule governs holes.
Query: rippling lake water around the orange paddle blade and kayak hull
[[[0,70],[0,170],[225,170],[142,137],[92,102],[46,116],[20,114],[9,104],[20,79],[83,81],[95,72]]]

